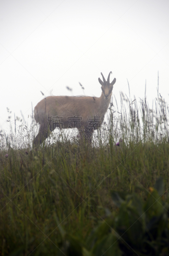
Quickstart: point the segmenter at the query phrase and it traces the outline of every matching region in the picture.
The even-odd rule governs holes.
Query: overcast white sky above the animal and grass
[[[168,0],[0,0],[0,129],[27,120],[45,96],[101,95],[98,77],[110,71],[119,91],[149,105],[168,100]],[[72,92],[66,89],[69,86]]]

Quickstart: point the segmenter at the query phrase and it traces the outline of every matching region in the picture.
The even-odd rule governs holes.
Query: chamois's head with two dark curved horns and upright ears
[[[107,81],[104,78],[102,73],[101,73],[101,75],[103,77],[103,82],[101,81],[100,78],[98,78],[99,79],[99,83],[101,84],[101,90],[102,90],[106,100],[110,99],[111,93],[112,93],[112,90],[113,90],[113,85],[116,82],[116,79],[114,78],[113,81],[110,83],[110,74],[111,73],[112,73],[112,71],[110,71],[110,73],[109,73],[109,75],[107,77]]]

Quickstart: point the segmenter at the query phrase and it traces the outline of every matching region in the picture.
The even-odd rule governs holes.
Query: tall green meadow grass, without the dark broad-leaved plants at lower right
[[[80,255],[68,254],[69,239],[64,244],[62,237],[87,241],[96,225],[115,216],[112,189],[136,192],[144,201],[162,176],[167,191],[167,103],[158,95],[150,109],[146,96],[137,103],[121,93],[121,110],[116,108],[110,106],[92,145],[69,134],[34,149],[33,120],[30,129],[20,122],[17,132],[15,120],[14,130],[1,132],[1,255]]]

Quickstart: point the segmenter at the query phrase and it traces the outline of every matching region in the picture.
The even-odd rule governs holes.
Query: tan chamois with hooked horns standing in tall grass
[[[114,78],[110,83],[111,73],[109,73],[107,81],[101,73],[103,82],[99,78],[102,89],[99,98],[48,96],[41,100],[34,108],[34,117],[40,124],[40,129],[33,143],[41,144],[47,138],[48,130],[53,131],[56,127],[60,129],[77,128],[81,138],[92,141],[93,130],[101,126],[110,104],[113,85],[116,82],[116,78]]]

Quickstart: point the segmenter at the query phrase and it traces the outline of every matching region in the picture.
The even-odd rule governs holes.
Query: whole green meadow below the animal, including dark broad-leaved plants
[[[169,255],[168,105],[113,104],[92,145],[1,132],[0,255]]]

